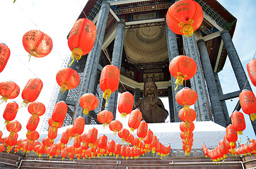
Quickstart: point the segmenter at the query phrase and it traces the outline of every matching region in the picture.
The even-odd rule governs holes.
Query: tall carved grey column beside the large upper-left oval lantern
[[[105,29],[107,25],[107,17],[108,17],[109,11],[110,11],[110,3],[107,1],[104,1],[103,4],[101,5],[99,18],[96,24],[97,37],[95,39],[93,49],[88,54],[86,67],[83,70],[83,77],[81,78],[81,90],[77,97],[78,99],[76,101],[76,108],[73,115],[73,121],[75,118],[83,114],[82,113],[83,108],[81,108],[81,106],[79,105],[80,97],[85,93],[95,92],[95,86],[96,86],[95,83],[96,83],[97,68],[98,68],[98,63],[99,63],[100,53],[101,53],[101,44],[103,44],[103,38],[105,35]]]

